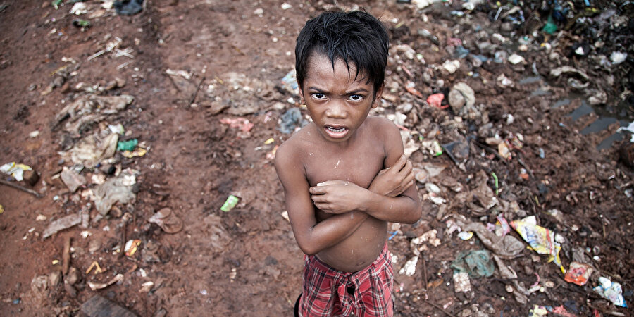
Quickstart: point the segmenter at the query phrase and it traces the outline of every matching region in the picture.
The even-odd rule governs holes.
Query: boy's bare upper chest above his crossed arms
[[[364,147],[352,151],[309,151],[306,177],[311,186],[327,180],[345,180],[367,188],[383,168],[385,154],[382,147]]]

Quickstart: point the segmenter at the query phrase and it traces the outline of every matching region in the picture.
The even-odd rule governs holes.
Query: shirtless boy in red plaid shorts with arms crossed
[[[360,11],[323,13],[297,37],[299,95],[313,121],[280,146],[275,170],[306,254],[300,316],[393,314],[387,222],[415,223],[421,202],[399,130],[368,117],[388,45],[383,24]]]

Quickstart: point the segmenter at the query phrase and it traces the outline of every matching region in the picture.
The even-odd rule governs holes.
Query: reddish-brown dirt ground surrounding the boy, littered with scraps
[[[303,254],[282,216],[272,160],[290,136],[279,129],[282,114],[298,108],[299,99],[281,80],[294,67],[294,39],[307,19],[356,7],[380,17],[392,37],[386,96],[373,114],[403,126],[418,171],[440,170],[416,184],[423,218],[390,226],[397,315],[526,316],[535,305],[578,316],[634,315],[592,290],[604,276],[621,283],[628,305],[634,300],[634,170],[620,152],[628,137],[597,149],[634,118],[631,36],[619,39],[630,56],[607,72],[590,58],[569,55],[583,34],[539,35],[522,51],[521,39],[532,33],[507,30],[485,9],[452,14],[458,1],[420,10],[378,0],[289,1],[290,8],[268,0],[147,0],[136,15],[118,15],[97,0],[82,2],[87,13],[73,15],[73,1],[62,2],[57,9],[41,0],[0,6],[0,164],[24,163],[41,174],[33,186],[3,179],[42,194],[0,185],[1,315],[80,315],[82,303],[99,294],[139,316],[291,316]],[[75,19],[91,25],[76,27]],[[456,39],[489,60],[476,65],[473,56],[453,57]],[[542,42],[554,45],[548,51]],[[492,61],[500,50],[518,51],[524,61]],[[459,67],[450,72],[446,61]],[[588,78],[576,80],[589,84],[585,92],[594,90],[580,94],[566,75],[550,73],[561,66],[584,70]],[[468,112],[444,107],[459,82],[475,92]],[[595,92],[606,92],[608,101],[576,118]],[[426,101],[435,93],[445,95],[441,108]],[[134,101],[123,109],[93,103],[92,112],[60,116],[85,97],[125,95]],[[94,113],[99,116],[82,119]],[[611,124],[584,132],[606,118]],[[71,192],[60,177],[63,168],[77,168],[70,152],[118,124],[125,130],[119,140],[137,139],[147,154],[128,158],[116,151],[97,166],[84,164],[78,170],[87,183]],[[510,158],[495,139],[509,144]],[[434,141],[449,144],[444,154],[430,154]],[[114,204],[101,218],[94,192],[122,173],[136,175],[135,199]],[[240,201],[220,211],[229,195]],[[182,230],[170,234],[148,222],[166,207]],[[90,215],[87,226],[43,238],[55,220],[77,214]],[[494,275],[470,279],[471,291],[456,292],[452,262],[459,251],[489,248],[478,236],[461,240],[452,225],[495,224],[497,216],[536,216],[560,235],[566,269],[573,259],[594,268],[590,281],[566,282],[547,256],[523,249],[503,260],[516,278],[495,266]],[[413,242],[430,230],[437,240]],[[515,230],[509,235],[528,246]],[[77,281],[58,273],[69,239]],[[121,251],[127,240],[140,240],[131,256]],[[414,273],[397,273],[418,250]],[[94,261],[102,272],[86,273]],[[120,282],[89,287],[119,274]]]

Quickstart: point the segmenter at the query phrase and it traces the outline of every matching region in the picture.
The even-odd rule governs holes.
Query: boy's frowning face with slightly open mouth
[[[383,93],[383,86],[374,92],[374,86],[365,74],[356,74],[342,59],[335,60],[335,69],[325,54],[312,54],[309,58],[304,85],[299,91],[306,102],[313,123],[323,137],[331,142],[350,139],[361,126],[371,108]]]

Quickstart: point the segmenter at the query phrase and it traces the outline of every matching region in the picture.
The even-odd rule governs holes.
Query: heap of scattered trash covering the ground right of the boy
[[[600,4],[593,5],[397,1],[411,15],[388,23],[388,74],[383,99],[371,115],[385,116],[401,129],[424,204],[425,216],[413,228],[394,225],[390,231],[398,272],[394,287],[406,309],[415,310],[411,305],[425,299],[445,313],[451,307],[452,313],[471,316],[487,306],[464,306],[486,283],[477,280],[485,278],[503,286],[507,295],[498,300],[512,298],[530,307],[529,314],[624,316],[609,304],[626,307],[624,293],[631,299],[631,284],[623,292],[617,281],[631,278],[626,273],[631,265],[621,262],[618,273],[602,270],[601,247],[588,240],[599,232],[576,221],[575,206],[580,192],[592,204],[597,182],[611,180],[621,188],[621,201],[627,201],[631,173],[611,172],[614,161],[597,163],[596,169],[583,172],[597,175],[597,182],[554,184],[549,173],[561,160],[575,161],[563,151],[580,140],[561,148],[545,144],[545,133],[576,133],[564,121],[559,127],[547,125],[546,116],[564,120],[549,104],[562,94],[575,92],[613,111],[631,104],[632,56],[626,46],[632,44],[632,4],[606,2],[602,11]],[[621,40],[628,44],[621,46]],[[281,81],[287,83],[287,77]],[[545,81],[564,88],[531,92],[533,83]],[[613,88],[615,82],[621,83],[619,89]],[[543,116],[528,116],[526,107]],[[281,118],[287,117],[290,110]],[[281,121],[279,130],[290,132]],[[584,216],[597,213],[585,211]],[[450,265],[446,252],[440,256],[445,261],[434,259],[442,246],[461,246]],[[448,278],[447,270],[453,271]],[[445,283],[454,284],[454,298],[433,296],[443,294],[440,285]],[[604,305],[598,308],[570,301],[561,290],[573,288],[608,302],[598,300]]]

